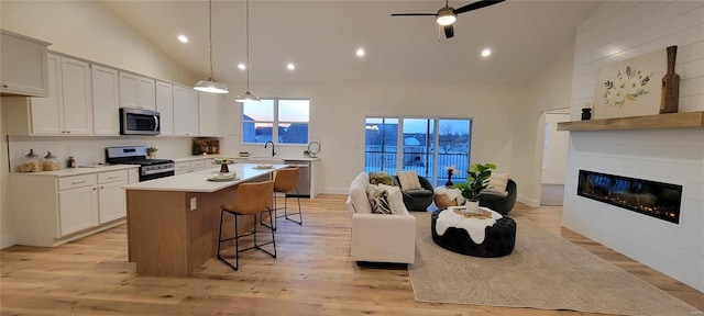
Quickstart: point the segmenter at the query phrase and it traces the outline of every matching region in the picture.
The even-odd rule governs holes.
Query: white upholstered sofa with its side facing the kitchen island
[[[352,217],[352,260],[414,263],[416,217],[405,207],[406,214],[372,213],[367,185],[370,177],[366,172],[360,173],[350,184],[346,208]]]

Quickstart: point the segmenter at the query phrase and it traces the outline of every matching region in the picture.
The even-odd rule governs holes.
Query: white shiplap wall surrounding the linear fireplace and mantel
[[[679,112],[704,111],[704,2],[604,2],[578,29],[572,120],[603,66],[671,45]],[[580,169],[683,185],[680,224],[578,196]],[[571,132],[562,225],[704,291],[704,129]]]

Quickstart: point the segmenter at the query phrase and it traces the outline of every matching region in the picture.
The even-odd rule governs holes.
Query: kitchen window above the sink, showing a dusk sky
[[[310,100],[305,99],[245,102],[242,105],[242,142],[308,144],[309,110]]]

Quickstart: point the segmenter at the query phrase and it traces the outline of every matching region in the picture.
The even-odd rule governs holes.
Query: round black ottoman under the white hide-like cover
[[[442,236],[438,235],[438,232],[436,232],[436,223],[438,222],[440,212],[453,211],[438,210],[432,212],[430,217],[432,241],[438,244],[438,246],[458,253],[484,258],[504,257],[514,251],[514,246],[516,245],[516,222],[513,218],[504,215],[504,217],[496,221],[494,226],[486,227],[484,230],[486,234],[484,242],[477,245],[472,241],[470,234],[462,228],[448,227]]]

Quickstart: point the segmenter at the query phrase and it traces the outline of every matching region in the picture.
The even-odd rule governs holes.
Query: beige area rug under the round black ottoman
[[[529,219],[516,221],[512,255],[477,258],[437,246],[430,213],[414,215],[416,262],[408,272],[416,301],[615,315],[700,313]]]

